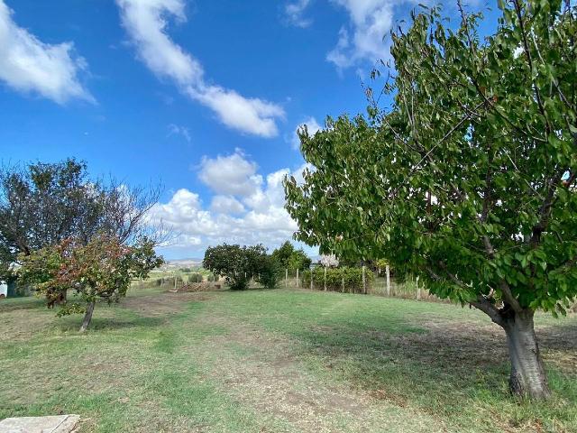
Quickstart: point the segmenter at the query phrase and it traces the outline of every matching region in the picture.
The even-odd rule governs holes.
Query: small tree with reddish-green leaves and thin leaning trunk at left
[[[131,281],[146,278],[148,273],[164,261],[154,253],[154,243],[144,238],[134,246],[125,246],[117,237],[99,235],[88,244],[66,239],[60,244],[32,251],[20,258],[19,274],[32,284],[38,295],[48,299],[48,306],[65,290],[75,290],[78,302],[61,305],[58,316],[83,312],[80,332],[87,330],[96,300],[108,303],[126,295]]]

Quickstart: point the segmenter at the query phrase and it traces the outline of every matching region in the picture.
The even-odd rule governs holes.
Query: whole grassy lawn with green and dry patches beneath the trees
[[[554,398],[508,396],[504,334],[444,303],[133,289],[92,329],[0,301],[0,419],[84,432],[577,431],[577,318],[537,318]]]

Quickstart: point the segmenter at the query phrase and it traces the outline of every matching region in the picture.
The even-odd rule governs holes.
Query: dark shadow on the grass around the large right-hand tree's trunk
[[[577,359],[577,325],[537,330],[554,398],[532,404],[508,393],[508,348],[499,327],[439,321],[426,323],[422,332],[398,333],[388,318],[371,319],[369,327],[333,323],[298,333],[305,352],[316,355],[313,368],[462,427],[480,416],[495,419],[499,428],[518,419],[571,425],[577,417],[577,370],[561,364],[563,356],[570,363]]]

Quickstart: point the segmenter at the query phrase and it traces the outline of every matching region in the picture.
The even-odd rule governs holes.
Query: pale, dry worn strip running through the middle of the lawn
[[[212,378],[223,383],[223,391],[238,401],[267,418],[287,423],[290,431],[341,432],[343,425],[346,431],[358,432],[444,431],[437,419],[318,378],[293,355],[299,351],[289,338],[232,323],[230,317],[203,320],[219,326],[226,323],[230,329],[206,342],[210,347],[206,353],[218,360]],[[242,355],[227,352],[231,343]],[[206,360],[211,363],[214,361]]]

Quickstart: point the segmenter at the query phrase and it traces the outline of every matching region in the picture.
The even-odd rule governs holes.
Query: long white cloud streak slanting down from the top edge
[[[116,0],[124,29],[136,46],[139,58],[159,78],[174,81],[181,92],[212,109],[226,126],[247,134],[274,137],[281,106],[238,92],[209,85],[200,62],[167,34],[167,19],[186,21],[184,0]]]

